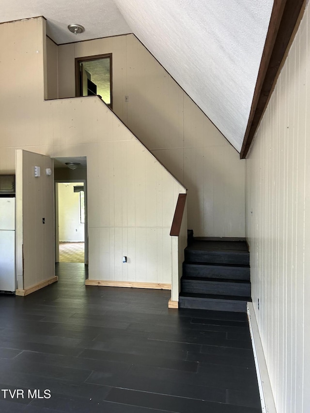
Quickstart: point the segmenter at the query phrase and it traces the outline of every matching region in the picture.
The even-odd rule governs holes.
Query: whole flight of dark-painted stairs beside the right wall
[[[248,247],[226,240],[199,240],[189,233],[179,308],[247,311],[252,301]]]

